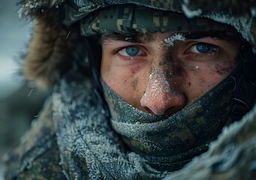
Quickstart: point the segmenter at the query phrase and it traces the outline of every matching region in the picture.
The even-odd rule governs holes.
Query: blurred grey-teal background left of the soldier
[[[0,159],[17,145],[47,97],[19,74],[32,22],[20,20],[17,9],[17,0],[0,1]]]

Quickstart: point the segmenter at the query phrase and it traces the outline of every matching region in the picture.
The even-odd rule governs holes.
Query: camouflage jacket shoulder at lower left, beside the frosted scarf
[[[66,179],[59,166],[52,113],[49,100],[32,129],[21,138],[20,145],[5,154],[2,161],[6,168],[5,179]]]

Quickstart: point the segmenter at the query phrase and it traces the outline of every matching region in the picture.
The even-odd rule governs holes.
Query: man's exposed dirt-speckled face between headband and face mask
[[[206,32],[103,35],[101,77],[128,104],[172,115],[239,64],[239,42]]]

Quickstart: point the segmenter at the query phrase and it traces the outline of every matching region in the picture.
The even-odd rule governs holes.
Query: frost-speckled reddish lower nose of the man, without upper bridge
[[[185,107],[185,95],[170,87],[161,69],[149,75],[146,92],[140,99],[140,105],[155,115],[172,115]]]

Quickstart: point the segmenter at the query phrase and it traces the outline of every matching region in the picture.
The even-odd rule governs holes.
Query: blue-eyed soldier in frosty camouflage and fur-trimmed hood
[[[255,113],[256,94],[254,1],[211,3],[21,1],[34,20],[24,74],[54,90],[5,156],[6,177],[182,179],[194,157],[211,157],[221,130]],[[254,136],[254,119],[241,121],[236,135],[246,127]],[[238,152],[227,152],[236,158],[197,161],[194,179],[202,169],[202,179],[241,175],[231,168]]]

